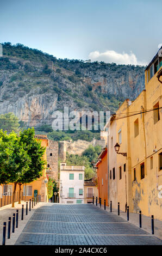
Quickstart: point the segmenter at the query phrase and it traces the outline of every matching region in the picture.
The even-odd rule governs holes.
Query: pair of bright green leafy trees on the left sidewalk
[[[0,184],[14,182],[13,204],[16,185],[30,183],[42,175],[46,161],[43,160],[45,148],[34,138],[34,129],[20,132],[0,132]]]

